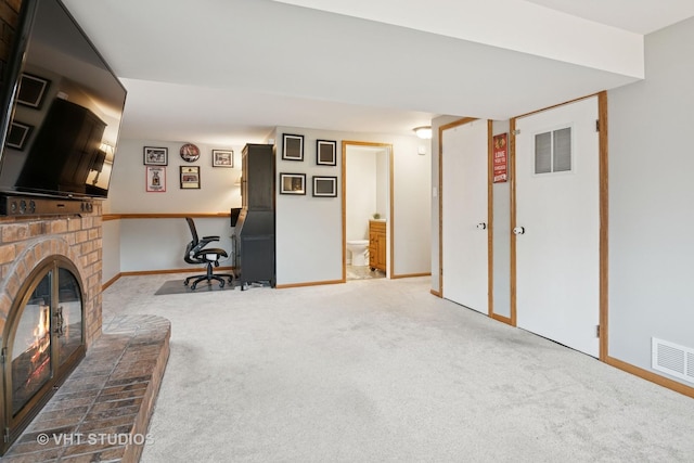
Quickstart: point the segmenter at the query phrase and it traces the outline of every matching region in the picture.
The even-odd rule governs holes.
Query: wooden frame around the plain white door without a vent
[[[438,128],[438,281],[437,296],[444,296],[444,130],[478,120],[463,117]],[[487,120],[487,314],[506,322],[493,313],[493,120]]]

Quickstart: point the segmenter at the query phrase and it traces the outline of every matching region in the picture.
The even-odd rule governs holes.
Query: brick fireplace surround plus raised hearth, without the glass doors
[[[103,325],[102,205],[94,201],[93,209],[80,215],[0,217],[0,346],[12,339],[2,336],[15,323],[10,312],[25,297],[25,282],[47,259],[69,261],[81,283],[87,353],[64,383],[53,386],[54,395],[20,436],[8,438],[4,430],[5,446],[14,443],[0,460],[138,461],[151,441],[144,436],[168,361],[170,323],[120,316]],[[0,391],[7,397],[5,375]]]

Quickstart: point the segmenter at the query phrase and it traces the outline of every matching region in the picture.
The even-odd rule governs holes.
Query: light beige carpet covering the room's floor
[[[692,462],[694,399],[429,294],[428,279],[154,296],[171,321],[142,461]]]

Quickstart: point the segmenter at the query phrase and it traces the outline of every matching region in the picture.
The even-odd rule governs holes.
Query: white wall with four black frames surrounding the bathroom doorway
[[[282,133],[303,134],[304,162],[282,160]],[[278,127],[278,173],[337,176],[342,182],[342,141],[391,143],[395,164],[395,267],[393,273],[428,273],[430,269],[430,155],[417,154],[421,140],[391,134],[365,134]],[[316,140],[336,140],[337,166],[316,164]],[[342,185],[342,183],[339,183]],[[278,195],[277,278],[279,285],[342,280],[342,188],[334,198]]]

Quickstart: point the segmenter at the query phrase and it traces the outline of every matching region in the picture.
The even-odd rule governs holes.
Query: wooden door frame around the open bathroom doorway
[[[395,227],[393,219],[393,144],[391,143],[375,143],[368,141],[349,141],[343,140],[343,159],[342,159],[342,207],[343,207],[343,283],[347,282],[347,147],[382,147],[388,150],[388,226],[386,233],[386,241],[388,244],[388,256],[386,257],[386,278],[393,278],[393,269],[395,269],[394,245],[395,242]]]

